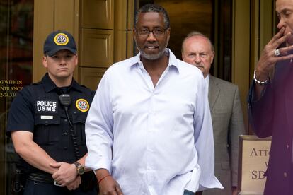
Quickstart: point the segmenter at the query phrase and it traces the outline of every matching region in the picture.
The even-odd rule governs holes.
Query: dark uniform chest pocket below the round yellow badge
[[[74,126],[74,133],[76,134],[76,140],[79,145],[86,145],[86,124],[87,114],[74,114],[72,116],[72,124]]]

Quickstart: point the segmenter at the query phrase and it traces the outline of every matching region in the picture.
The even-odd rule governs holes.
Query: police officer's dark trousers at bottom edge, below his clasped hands
[[[90,191],[82,191],[79,187],[76,190],[68,190],[66,187],[57,187],[54,184],[44,182],[34,182],[28,180],[25,184],[23,195],[97,195],[96,189]]]

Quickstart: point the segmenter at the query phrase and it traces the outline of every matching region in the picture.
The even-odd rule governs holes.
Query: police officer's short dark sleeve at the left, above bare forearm
[[[11,136],[12,131],[30,131],[34,129],[33,105],[29,101],[29,90],[23,88],[13,99],[8,114],[6,135]]]

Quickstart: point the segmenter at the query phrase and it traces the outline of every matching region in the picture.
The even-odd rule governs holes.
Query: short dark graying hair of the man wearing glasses
[[[163,22],[165,23],[165,28],[170,28],[170,18],[168,16],[167,11],[159,5],[156,4],[146,4],[139,8],[137,13],[134,16],[134,27],[137,25],[139,13],[147,13],[147,12],[156,12],[163,13]]]

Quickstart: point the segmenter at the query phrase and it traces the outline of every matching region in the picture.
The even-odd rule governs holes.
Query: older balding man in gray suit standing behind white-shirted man
[[[185,37],[182,59],[202,71],[209,88],[207,93],[214,129],[214,173],[224,189],[211,189],[203,194],[237,194],[238,137],[245,132],[239,89],[237,85],[209,74],[214,47],[202,33],[191,32]]]

